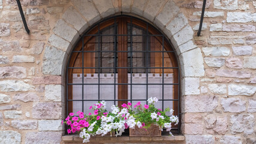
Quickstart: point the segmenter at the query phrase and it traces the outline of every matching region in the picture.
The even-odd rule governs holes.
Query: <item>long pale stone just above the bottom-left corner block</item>
[[[18,130],[36,130],[37,121],[35,120],[13,120],[11,126]]]

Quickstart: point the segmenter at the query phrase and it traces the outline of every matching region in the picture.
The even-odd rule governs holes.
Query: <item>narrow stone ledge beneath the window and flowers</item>
[[[160,137],[130,137],[130,136],[96,136],[91,137],[91,143],[148,143],[148,142],[156,142],[156,143],[169,143],[174,142],[178,143],[184,141],[185,137],[178,135],[178,136],[160,136]],[[63,143],[82,143],[82,139],[77,135],[66,135],[62,136]]]

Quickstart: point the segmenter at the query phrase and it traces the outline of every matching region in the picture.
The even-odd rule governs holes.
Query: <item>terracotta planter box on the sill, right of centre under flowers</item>
[[[129,136],[139,137],[139,136],[161,136],[161,130],[159,130],[159,126],[151,124],[150,127],[147,129],[145,128],[138,128],[137,126],[133,128],[129,128]]]

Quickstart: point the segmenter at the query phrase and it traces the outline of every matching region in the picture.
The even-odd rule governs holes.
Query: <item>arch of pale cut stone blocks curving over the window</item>
[[[204,76],[203,55],[192,41],[194,31],[172,0],[118,1],[72,0],[72,5],[56,22],[43,56],[43,74],[65,77],[67,59],[80,35],[99,20],[114,14],[133,14],[153,23],[169,38],[177,52],[181,68],[181,94],[199,95]],[[133,2],[133,4],[132,4]],[[192,85],[191,85],[192,83]],[[63,90],[63,89],[62,89]],[[64,94],[62,100],[64,100]],[[183,101],[183,104],[186,103]],[[63,111],[64,112],[64,111]]]

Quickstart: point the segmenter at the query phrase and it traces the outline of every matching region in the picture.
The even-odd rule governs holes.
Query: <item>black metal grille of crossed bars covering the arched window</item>
[[[127,32],[127,35],[126,34],[118,34],[117,31],[117,22],[116,22],[116,19],[118,17],[129,17],[130,19],[130,31]],[[114,19],[114,34],[101,34],[100,33],[100,24],[105,22],[106,20],[109,20],[109,19]],[[89,106],[84,106],[84,101],[102,101],[104,99],[102,99],[100,97],[100,87],[101,86],[106,86],[106,85],[112,85],[113,88],[114,88],[114,95],[113,95],[113,99],[111,100],[105,100],[105,101],[114,101],[114,104],[116,104],[117,101],[130,101],[132,103],[132,101],[146,101],[147,103],[147,99],[148,99],[148,86],[150,85],[160,85],[162,86],[162,97],[159,98],[159,103],[161,103],[162,101],[162,109],[164,108],[164,102],[165,101],[169,101],[170,103],[172,101],[177,101],[177,104],[178,104],[178,109],[177,109],[177,113],[178,113],[178,116],[180,117],[180,71],[179,71],[179,67],[165,67],[164,65],[164,61],[165,61],[165,53],[175,53],[174,50],[166,50],[165,49],[165,46],[164,46],[164,43],[167,41],[169,43],[168,40],[166,40],[165,36],[159,32],[159,34],[150,34],[150,32],[148,32],[148,26],[151,26],[151,28],[154,28],[154,26],[150,25],[150,23],[148,22],[145,22],[144,20],[141,20],[142,22],[146,23],[147,27],[145,29],[145,34],[133,34],[132,32],[132,29],[133,29],[133,20],[136,19],[136,20],[141,20],[141,19],[138,19],[136,17],[133,17],[133,16],[127,16],[127,15],[121,15],[121,16],[114,16],[114,17],[111,17],[111,18],[108,18],[108,19],[105,19],[105,20],[102,20],[101,22],[97,23],[96,25],[92,26],[91,29],[93,28],[98,28],[97,30],[97,34],[87,34],[89,31],[91,31],[91,29],[89,29],[84,35],[82,35],[81,37],[81,41],[82,41],[82,49],[81,50],[73,50],[72,53],[82,53],[82,67],[69,67],[69,64],[70,64],[70,59],[69,59],[69,62],[68,62],[68,66],[67,66],[67,80],[66,80],[66,87],[68,86],[73,86],[73,85],[78,85],[78,86],[82,86],[81,88],[81,91],[82,91],[82,95],[81,95],[81,99],[69,99],[69,89],[66,88],[66,94],[67,94],[67,99],[66,99],[66,104],[67,104],[67,113],[69,113],[69,102],[71,101],[72,103],[75,102],[75,101],[79,101],[82,103],[82,110],[84,111],[85,109],[88,109]],[[85,50],[84,49],[84,38],[85,37],[88,37],[88,36],[93,36],[93,37],[96,37],[97,38],[97,41],[94,42],[94,44],[97,44],[97,50]],[[114,42],[112,42],[112,44],[114,44],[114,50],[102,50],[102,44],[105,43],[102,41],[102,37],[103,36],[109,36],[109,37],[114,37]],[[127,42],[127,45],[130,47],[129,50],[118,50],[118,47],[117,47],[117,43],[118,43],[118,36],[123,36],[123,37],[129,37],[130,38],[130,41]],[[133,43],[136,43],[136,42],[133,42],[133,37],[144,37],[145,38],[145,49],[144,50],[133,50]],[[150,37],[161,37],[162,38],[162,50],[151,50],[150,49]],[[128,38],[127,38],[128,39]],[[127,47],[128,47],[127,46]],[[118,56],[117,56],[117,53],[118,52],[122,52],[122,53],[129,53],[130,57],[129,57],[129,67],[118,67],[117,65],[117,61],[118,61]],[[85,67],[85,64],[84,64],[84,53],[97,53],[97,64],[94,65],[94,67]],[[114,66],[113,67],[103,67],[101,62],[102,62],[102,53],[114,53]],[[145,61],[145,65],[143,67],[133,67],[133,53],[144,53],[144,61]],[[150,53],[161,53],[162,54],[162,66],[161,67],[150,67]],[[175,55],[175,54],[174,54]],[[176,56],[176,55],[175,55]],[[177,58],[175,58],[177,59]],[[128,74],[130,74],[130,82],[129,83],[118,83],[117,80],[116,80],[116,77],[117,77],[117,69],[121,69],[121,68],[125,68],[129,71]],[[69,70],[70,69],[82,69],[82,83],[69,83]],[[98,82],[97,83],[85,83],[84,82],[84,76],[85,76],[85,73],[84,73],[84,70],[85,69],[94,69],[96,70],[96,73],[98,75]],[[146,74],[146,82],[145,83],[134,83],[133,82],[133,76],[135,73],[133,73],[133,71],[136,70],[141,70],[143,71],[144,70],[144,73]],[[153,69],[159,69],[159,70],[162,70],[162,73],[159,73],[159,76],[162,76],[162,82],[161,83],[149,83],[148,82],[148,74],[150,73],[151,70]],[[176,83],[173,83],[173,82],[165,82],[165,73],[164,71],[165,70],[169,70],[169,69],[175,69],[178,71],[178,74],[177,74],[177,82]],[[100,82],[100,74],[101,74],[101,71],[104,71],[104,70],[112,70],[113,71],[113,74],[114,74],[114,83],[101,83]],[[85,98],[84,96],[84,86],[86,85],[97,85],[97,88],[98,88],[98,97],[96,98],[93,98],[93,99],[88,99],[88,98]],[[117,85],[127,85],[127,86],[130,86],[130,98],[128,98],[128,100],[118,100],[116,98],[116,86]],[[136,86],[136,85],[144,85],[145,86],[145,89],[146,89],[146,97],[145,99],[136,99],[135,97],[133,97],[133,86]],[[177,91],[178,93],[178,97],[177,98],[164,98],[164,92],[165,92],[165,85],[176,85],[178,88],[175,89],[175,91]],[[178,125],[177,128],[174,128],[172,130],[172,133],[180,133],[180,124]]]

